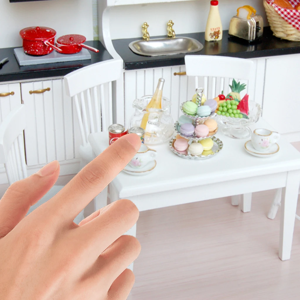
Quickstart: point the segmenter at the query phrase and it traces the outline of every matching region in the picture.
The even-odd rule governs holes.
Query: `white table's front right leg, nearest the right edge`
[[[279,258],[286,260],[291,257],[292,241],[295,225],[300,171],[290,171],[283,188],[280,213]]]

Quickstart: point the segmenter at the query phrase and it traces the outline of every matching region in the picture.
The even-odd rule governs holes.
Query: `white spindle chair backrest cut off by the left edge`
[[[0,125],[0,163],[4,163],[9,184],[27,177],[23,138],[25,127],[24,104],[13,109]]]

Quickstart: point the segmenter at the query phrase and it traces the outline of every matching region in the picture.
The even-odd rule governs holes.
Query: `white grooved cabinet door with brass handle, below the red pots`
[[[74,139],[74,136],[80,137],[77,118],[73,114],[72,99],[65,94],[63,80],[24,82],[21,90],[26,105],[27,165],[78,158],[81,140]]]

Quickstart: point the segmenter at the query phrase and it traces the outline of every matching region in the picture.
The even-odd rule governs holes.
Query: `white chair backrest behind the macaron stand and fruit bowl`
[[[249,85],[255,84],[254,63],[249,59],[216,56],[216,55],[186,55],[185,69],[187,76],[195,76],[195,89],[204,88],[204,95],[214,98],[224,91],[229,92],[229,84],[234,78]],[[199,77],[203,82],[199,82]],[[253,93],[254,94],[254,93]]]

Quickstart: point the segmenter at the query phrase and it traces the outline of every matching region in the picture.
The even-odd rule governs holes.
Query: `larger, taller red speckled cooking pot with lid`
[[[20,31],[23,50],[30,55],[46,55],[53,51],[62,52],[54,46],[56,31],[48,27],[27,27]]]

